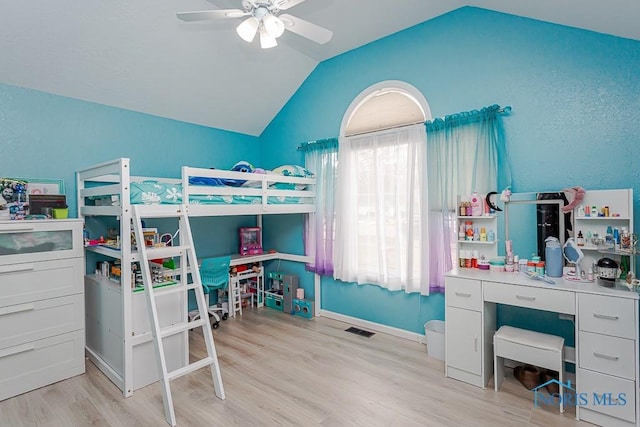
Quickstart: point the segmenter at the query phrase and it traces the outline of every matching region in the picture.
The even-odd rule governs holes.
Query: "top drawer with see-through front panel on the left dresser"
[[[82,257],[82,221],[0,221],[0,265]]]

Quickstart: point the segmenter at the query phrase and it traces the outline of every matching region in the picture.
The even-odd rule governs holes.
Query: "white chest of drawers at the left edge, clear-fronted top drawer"
[[[0,222],[0,400],[85,371],[81,220]]]

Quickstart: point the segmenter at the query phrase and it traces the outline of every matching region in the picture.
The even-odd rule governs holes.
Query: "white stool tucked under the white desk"
[[[493,383],[496,391],[504,380],[504,359],[557,371],[560,383],[564,384],[564,338],[511,326],[500,327],[493,335]],[[562,396],[560,412],[564,412]]]

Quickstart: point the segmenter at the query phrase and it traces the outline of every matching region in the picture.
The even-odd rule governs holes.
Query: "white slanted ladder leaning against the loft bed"
[[[180,244],[178,246],[174,245],[167,247],[146,247],[144,244],[145,240],[142,226],[143,218],[178,218]],[[171,380],[209,366],[211,369],[211,377],[216,396],[222,400],[225,398],[222,377],[220,375],[220,365],[218,363],[218,356],[213,342],[213,334],[211,332],[211,325],[209,324],[209,314],[207,313],[196,252],[193,245],[191,226],[189,224],[189,217],[184,205],[134,205],[133,226],[136,242],[142,242],[137,244],[138,255],[145,294],[147,296],[151,334],[153,336],[153,342],[156,350],[160,382],[162,383],[162,399],[164,403],[165,419],[171,426],[175,426],[176,416],[173,407],[173,398],[171,396]],[[179,274],[175,277],[177,283],[170,286],[158,286],[154,289],[149,261],[152,259],[169,257],[180,258],[178,267]],[[191,276],[191,283],[189,283],[188,280],[189,276]],[[200,318],[192,322],[188,322],[185,318],[184,323],[173,324],[168,327],[165,326],[161,328],[158,320],[158,305],[156,304],[156,298],[163,298],[165,295],[183,292],[186,304],[187,291],[189,290],[193,290],[195,293]],[[187,331],[196,327],[202,327],[202,333],[207,347],[207,357],[195,362],[190,362],[186,366],[174,371],[168,371],[162,339],[179,333],[187,333]]]

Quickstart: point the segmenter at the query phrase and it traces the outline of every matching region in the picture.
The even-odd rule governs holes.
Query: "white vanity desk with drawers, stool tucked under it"
[[[475,269],[447,273],[446,376],[487,386],[493,375],[496,304],[574,316],[576,347],[568,353],[575,355],[576,392],[586,399],[577,405],[576,418],[606,426],[640,425],[638,293],[553,280],[551,285],[523,274]],[[626,403],[617,400],[619,393]]]

